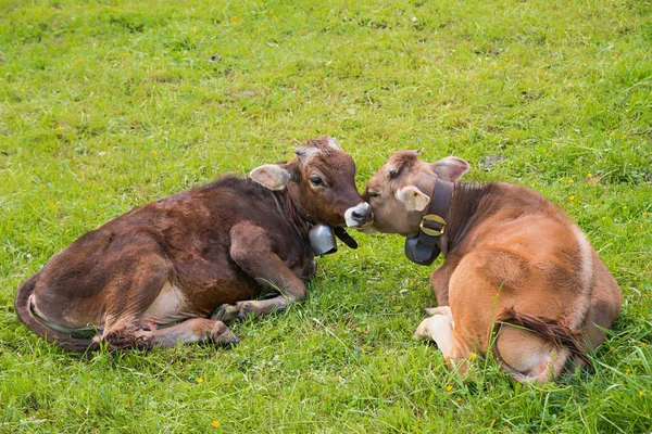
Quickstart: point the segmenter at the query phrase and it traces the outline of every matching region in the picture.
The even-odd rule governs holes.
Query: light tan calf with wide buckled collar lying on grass
[[[556,205],[515,184],[455,182],[467,170],[456,157],[427,164],[401,151],[363,194],[371,227],[409,238],[409,257],[427,265],[446,256],[430,279],[439,307],[415,336],[435,341],[462,371],[473,352],[492,347],[518,381],[586,363],[618,315],[618,284]]]

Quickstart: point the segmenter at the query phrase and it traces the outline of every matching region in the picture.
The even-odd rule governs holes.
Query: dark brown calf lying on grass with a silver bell
[[[111,349],[235,343],[225,322],[283,310],[305,296],[303,282],[315,272],[313,225],[368,222],[354,176],[353,159],[323,136],[287,164],[135,208],[27,279],[16,312],[41,337],[78,352],[101,341]],[[280,295],[251,299],[269,289]],[[80,337],[93,330],[92,340]]]

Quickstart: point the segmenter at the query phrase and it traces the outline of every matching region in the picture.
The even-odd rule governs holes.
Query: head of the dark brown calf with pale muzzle
[[[355,188],[355,164],[335,138],[322,136],[297,149],[284,164],[253,169],[250,177],[274,191],[287,189],[294,206],[314,224],[360,227],[372,208]]]

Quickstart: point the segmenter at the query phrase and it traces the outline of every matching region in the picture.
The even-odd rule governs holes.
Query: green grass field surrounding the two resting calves
[[[652,5],[642,0],[0,0],[0,432],[652,430]],[[214,60],[211,61],[211,58]],[[623,311],[590,372],[521,385],[414,342],[429,267],[353,233],[234,349],[66,354],[16,288],[108,219],[336,136],[358,183],[401,149],[530,186]],[[504,155],[496,165],[488,156]],[[441,259],[439,259],[441,260]],[[436,263],[440,264],[440,261]]]

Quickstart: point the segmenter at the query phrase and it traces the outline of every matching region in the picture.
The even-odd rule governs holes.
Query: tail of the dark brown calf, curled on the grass
[[[34,315],[32,294],[34,293],[37,279],[38,273],[32,276],[18,288],[14,305],[18,319],[40,337],[45,339],[51,344],[58,344],[65,349],[76,353],[86,353],[88,350],[98,349],[100,347],[98,342],[89,339],[71,337],[51,329]]]

